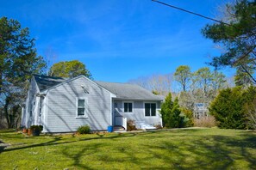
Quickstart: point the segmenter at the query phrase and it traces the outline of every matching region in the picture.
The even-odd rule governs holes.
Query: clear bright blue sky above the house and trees
[[[222,0],[162,0],[215,17]],[[192,70],[219,54],[201,28],[212,23],[151,0],[1,0],[0,16],[20,21],[36,39],[38,54],[53,61],[78,59],[96,80],[127,82],[167,74],[181,64]],[[232,70],[225,70],[230,76]]]

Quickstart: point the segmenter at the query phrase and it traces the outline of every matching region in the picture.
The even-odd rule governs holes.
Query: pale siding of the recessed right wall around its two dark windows
[[[131,100],[128,100],[131,101]],[[125,100],[114,100],[114,107],[115,103],[117,104],[117,107],[114,108],[114,115],[115,116],[123,116],[127,119],[132,119],[135,121],[144,121],[147,124],[157,125],[162,124],[162,118],[159,114],[160,109],[160,101],[143,101],[143,100],[134,100],[133,101],[133,112],[127,113],[123,112],[123,102],[126,102]],[[144,103],[156,103],[157,107],[157,116],[156,117],[145,117],[145,109],[144,109]]]

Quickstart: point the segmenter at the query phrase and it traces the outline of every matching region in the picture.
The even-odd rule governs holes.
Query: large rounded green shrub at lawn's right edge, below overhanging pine
[[[220,128],[253,129],[249,124],[251,118],[247,116],[250,112],[247,106],[254,99],[256,87],[223,89],[209,106],[209,113],[215,117]]]

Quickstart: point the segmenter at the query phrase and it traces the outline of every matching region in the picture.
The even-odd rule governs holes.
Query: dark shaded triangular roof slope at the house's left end
[[[61,82],[64,82],[67,79],[55,76],[34,75],[34,80],[37,83],[37,86],[40,89],[40,91],[43,91]]]

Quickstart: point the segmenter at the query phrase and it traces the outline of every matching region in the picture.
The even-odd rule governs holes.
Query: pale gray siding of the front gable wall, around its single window
[[[47,123],[44,131],[77,131],[84,124],[90,125],[92,131],[107,130],[111,125],[110,95],[109,91],[83,76],[50,89],[44,103]],[[77,98],[84,97],[88,100],[88,118],[77,118]]]

